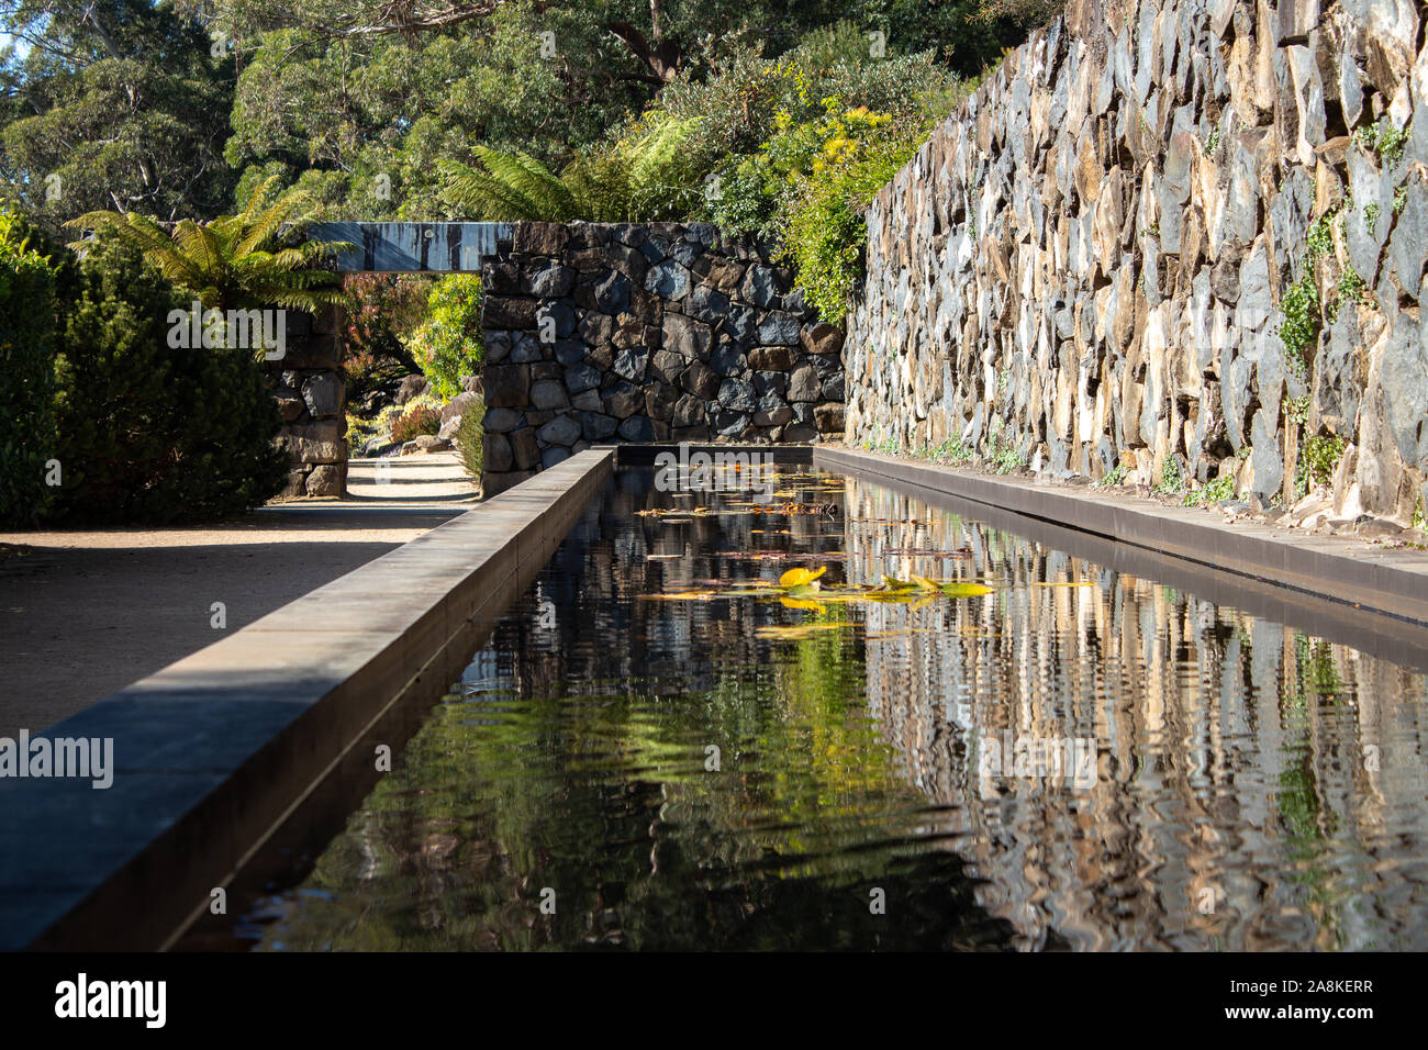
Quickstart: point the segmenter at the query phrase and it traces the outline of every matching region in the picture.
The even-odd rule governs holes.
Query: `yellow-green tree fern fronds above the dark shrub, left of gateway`
[[[316,220],[310,194],[278,193],[277,179],[268,179],[238,214],[208,223],[183,219],[169,233],[133,211],[91,211],[66,226],[107,233],[136,247],[206,309],[280,306],[316,311],[343,301],[340,279],[318,264],[351,247],[301,240]],[[89,244],[71,247],[84,253]]]

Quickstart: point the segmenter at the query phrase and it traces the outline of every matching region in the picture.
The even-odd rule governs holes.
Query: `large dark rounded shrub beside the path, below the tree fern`
[[[281,490],[288,457],[261,366],[241,349],[171,349],[183,304],[133,244],[89,246],[56,359],[66,519],[210,519]]]

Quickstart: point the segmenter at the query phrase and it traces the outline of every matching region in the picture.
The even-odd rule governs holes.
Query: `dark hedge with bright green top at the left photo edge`
[[[33,524],[49,503],[54,453],[56,276],[34,231],[0,210],[0,524]]]

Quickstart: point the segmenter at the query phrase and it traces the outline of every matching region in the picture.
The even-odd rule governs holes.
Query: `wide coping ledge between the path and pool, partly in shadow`
[[[166,944],[371,726],[450,687],[614,459],[578,453],[34,733],[111,740],[111,784],[0,779],[0,947]]]

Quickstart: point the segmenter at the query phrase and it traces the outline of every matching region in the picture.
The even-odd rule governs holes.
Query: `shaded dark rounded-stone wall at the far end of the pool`
[[[591,444],[843,433],[843,333],[694,223],[516,223],[486,289],[486,493]]]

